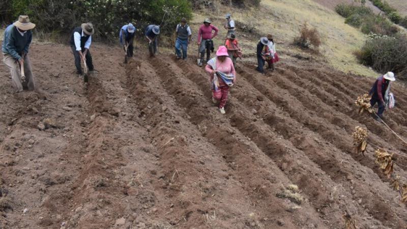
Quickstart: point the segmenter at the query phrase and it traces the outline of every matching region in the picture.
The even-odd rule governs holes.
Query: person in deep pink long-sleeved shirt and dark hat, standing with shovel
[[[207,51],[207,62],[211,58],[211,50],[213,52],[214,46],[212,39],[218,34],[218,28],[211,24],[211,20],[208,18],[203,21],[203,24],[199,27],[198,31],[198,47],[200,52],[199,66],[202,66],[203,57],[205,56],[205,50]],[[212,31],[215,31],[212,34]],[[202,39],[202,40],[201,40]]]

